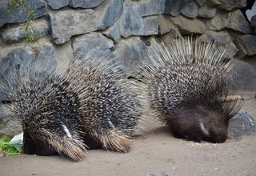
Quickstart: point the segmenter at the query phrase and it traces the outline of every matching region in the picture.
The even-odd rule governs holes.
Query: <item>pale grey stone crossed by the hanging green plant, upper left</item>
[[[34,39],[42,38],[49,31],[49,24],[45,18],[38,19],[30,24],[30,37]],[[26,38],[26,24],[6,26],[0,30],[3,42],[20,42]]]

